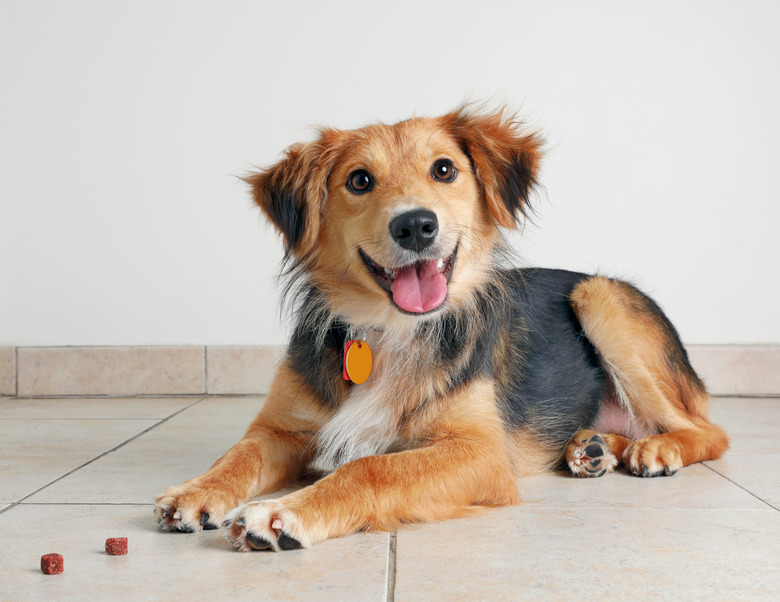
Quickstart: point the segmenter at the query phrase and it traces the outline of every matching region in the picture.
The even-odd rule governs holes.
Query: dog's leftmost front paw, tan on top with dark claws
[[[193,533],[218,528],[227,512],[240,503],[230,491],[200,479],[169,487],[155,498],[154,513],[163,531]]]

